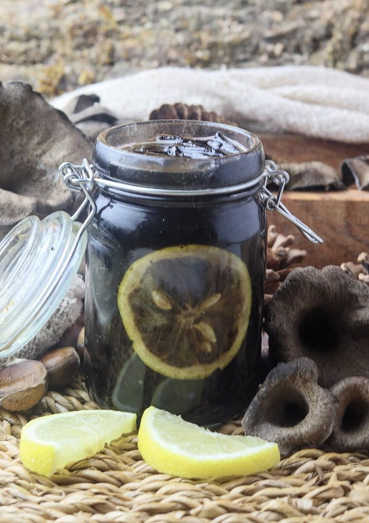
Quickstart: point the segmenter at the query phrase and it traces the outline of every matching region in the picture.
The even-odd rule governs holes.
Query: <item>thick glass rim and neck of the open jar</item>
[[[217,132],[238,142],[242,150],[223,157],[191,158],[121,149],[162,134],[202,138]],[[149,120],[111,127],[98,135],[92,157],[95,169],[103,178],[175,190],[242,184],[258,178],[263,173],[264,162],[264,151],[255,134],[223,123],[199,120]]]

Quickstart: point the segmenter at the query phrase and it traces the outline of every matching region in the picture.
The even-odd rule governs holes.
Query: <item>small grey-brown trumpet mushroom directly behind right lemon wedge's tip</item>
[[[278,443],[281,454],[322,444],[331,433],[336,400],[317,384],[309,358],[272,369],[242,420],[245,434]]]

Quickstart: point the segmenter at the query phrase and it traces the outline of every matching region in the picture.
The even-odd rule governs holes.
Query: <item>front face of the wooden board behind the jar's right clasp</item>
[[[279,232],[294,234],[296,247],[306,249],[304,265],[321,268],[355,261],[369,252],[369,192],[348,189],[337,192],[285,191],[285,206],[324,240],[315,245],[275,211],[268,211],[269,224]]]

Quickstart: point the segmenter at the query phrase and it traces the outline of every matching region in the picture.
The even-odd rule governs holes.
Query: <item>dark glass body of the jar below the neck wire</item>
[[[256,391],[260,358],[266,214],[257,192],[195,203],[143,202],[100,193],[96,204],[96,218],[88,235],[85,304],[85,374],[95,401],[139,416],[154,404],[207,426],[243,412]],[[167,263],[169,259],[172,264],[173,257],[177,265],[171,275],[166,267],[173,267]],[[162,270],[160,281],[165,287],[149,287],[151,309],[146,316],[143,313],[141,321],[141,326],[148,322],[148,333],[142,338],[146,346],[163,336],[169,350],[184,351],[191,359],[191,352],[186,353],[191,348],[184,346],[188,339],[192,340],[193,354],[206,353],[217,346],[217,338],[224,336],[222,331],[233,336],[233,342],[237,337],[233,331],[240,332],[241,339],[225,359],[220,357],[219,365],[215,358],[215,365],[206,367],[209,358],[197,354],[206,370],[183,376],[182,371],[176,371],[170,354],[159,355],[160,361],[167,362],[164,369],[147,358],[142,339],[135,340],[135,326],[127,320],[129,311],[120,311],[118,306],[121,282],[130,270],[139,267],[139,274],[147,274],[145,285],[151,285],[147,281],[156,269],[145,272],[145,260],[151,267],[163,267],[158,270]],[[227,270],[222,272],[224,266]],[[129,285],[135,286],[139,299],[140,283],[137,287],[137,278],[131,280]],[[187,287],[188,303],[180,299]],[[168,300],[174,301],[168,304]],[[177,304],[181,310],[176,309]],[[171,320],[167,320],[167,313],[173,313]],[[135,310],[131,320],[138,315]],[[175,340],[170,338],[167,324],[162,330],[156,325],[175,322],[179,316],[186,316],[186,321],[176,327]],[[152,329],[151,321],[156,322]],[[179,366],[186,367],[186,362]]]

